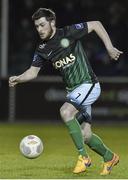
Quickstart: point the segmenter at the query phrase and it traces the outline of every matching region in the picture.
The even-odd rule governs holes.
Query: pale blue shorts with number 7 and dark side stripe
[[[98,99],[100,92],[99,83],[81,84],[67,94],[67,101],[72,103],[77,109],[81,109],[81,106],[87,107],[93,104]]]

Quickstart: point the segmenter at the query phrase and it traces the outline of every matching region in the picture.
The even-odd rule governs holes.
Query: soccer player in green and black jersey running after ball
[[[122,51],[116,49],[99,21],[82,22],[64,28],[56,27],[55,13],[46,8],[38,9],[32,16],[40,36],[31,67],[19,76],[9,78],[9,86],[30,81],[37,77],[44,62],[49,61],[60,71],[67,90],[67,101],[60,108],[60,115],[78,150],[74,173],[86,171],[91,165],[84,143],[103,157],[101,175],[111,172],[119,162],[119,156],[91,131],[91,105],[100,96],[100,84],[94,74],[81,39],[94,31],[103,41],[111,59],[118,60]]]

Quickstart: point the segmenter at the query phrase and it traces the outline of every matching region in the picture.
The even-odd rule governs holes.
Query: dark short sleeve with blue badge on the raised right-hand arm
[[[65,30],[68,36],[72,36],[74,39],[80,39],[88,34],[87,22],[66,26]]]

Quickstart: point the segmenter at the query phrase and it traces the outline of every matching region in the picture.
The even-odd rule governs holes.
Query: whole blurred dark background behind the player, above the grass
[[[31,65],[38,40],[31,16],[39,7],[56,12],[58,27],[83,21],[102,22],[114,46],[124,54],[118,62],[112,61],[95,33],[83,38],[102,87],[102,94],[93,105],[93,117],[95,122],[127,122],[127,0],[0,0],[0,122],[61,122],[59,108],[66,92],[51,65],[46,64],[36,80],[8,87],[9,76],[21,74]]]

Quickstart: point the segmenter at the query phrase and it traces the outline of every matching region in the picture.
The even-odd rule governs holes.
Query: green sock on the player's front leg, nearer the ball
[[[84,148],[84,140],[83,140],[83,136],[81,133],[80,125],[77,122],[77,120],[74,118],[74,119],[66,122],[66,125],[67,125],[69,133],[73,139],[73,142],[79,151],[79,154],[82,156],[88,157],[88,154]]]

